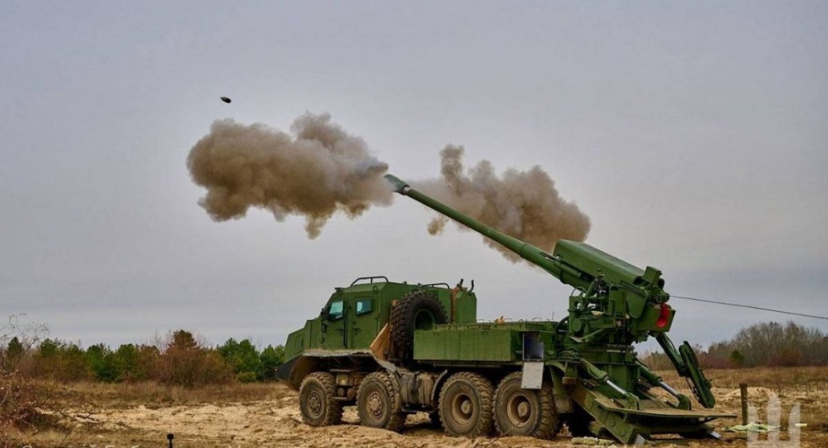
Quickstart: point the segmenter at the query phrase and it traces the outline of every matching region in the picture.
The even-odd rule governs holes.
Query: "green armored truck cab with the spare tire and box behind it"
[[[476,321],[477,298],[462,281],[452,288],[360,277],[348,287],[335,288],[319,317],[287,336],[285,363],[277,377],[299,388],[306,374],[316,369],[353,365],[354,371],[370,371],[378,360],[410,358],[415,330]]]

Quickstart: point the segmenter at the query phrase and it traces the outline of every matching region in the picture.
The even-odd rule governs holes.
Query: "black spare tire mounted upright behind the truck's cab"
[[[414,355],[414,331],[428,330],[448,322],[445,309],[434,294],[416,291],[403,296],[391,309],[391,341],[397,355],[411,360]]]

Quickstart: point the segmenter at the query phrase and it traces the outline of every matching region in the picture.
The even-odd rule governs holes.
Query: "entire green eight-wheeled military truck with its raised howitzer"
[[[642,444],[659,434],[718,437],[707,425],[715,398],[696,354],[667,337],[675,311],[661,272],[639,269],[585,243],[553,254],[504,235],[386,176],[397,193],[513,250],[573,287],[557,322],[477,322],[474,284],[394,283],[385,277],[336,288],[320,316],[292,332],[277,375],[299,390],[310,426],[359,422],[399,431],[428,412],[451,436],[573,436]],[[655,337],[705,409],[638,360],[633,343]],[[662,388],[669,399],[659,398]]]

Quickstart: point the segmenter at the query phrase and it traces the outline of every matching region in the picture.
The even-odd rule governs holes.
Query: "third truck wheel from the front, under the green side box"
[[[451,375],[440,390],[440,421],[445,432],[450,436],[489,436],[493,395],[494,387],[483,375]]]

